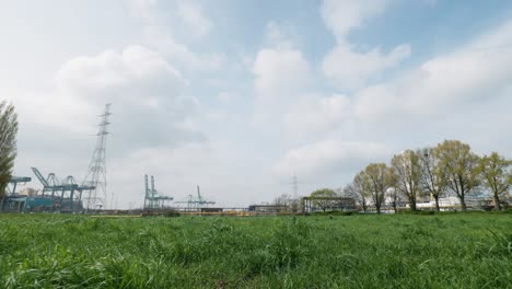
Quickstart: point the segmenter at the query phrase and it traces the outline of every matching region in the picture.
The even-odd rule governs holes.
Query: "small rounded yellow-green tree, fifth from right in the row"
[[[393,173],[385,163],[371,163],[357,177],[361,177],[362,188],[375,205],[377,213],[389,187],[394,186]]]

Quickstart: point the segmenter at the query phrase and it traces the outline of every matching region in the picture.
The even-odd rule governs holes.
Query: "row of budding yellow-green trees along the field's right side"
[[[501,210],[502,196],[512,184],[512,161],[497,152],[479,157],[469,144],[459,140],[444,140],[437,147],[405,150],[395,154],[389,164],[370,163],[344,187],[346,196],[353,197],[364,211],[369,206],[376,212],[387,199],[397,210],[398,200],[407,200],[410,210],[417,210],[418,198],[430,195],[440,210],[440,197],[452,192],[466,210],[466,197],[475,189],[492,194],[496,209]]]

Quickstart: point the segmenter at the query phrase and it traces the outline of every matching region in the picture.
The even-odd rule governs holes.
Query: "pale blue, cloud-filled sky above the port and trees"
[[[512,157],[507,0],[0,0],[0,63],[15,175],[85,177],[112,103],[110,208],[144,174],[238,207],[444,139]]]

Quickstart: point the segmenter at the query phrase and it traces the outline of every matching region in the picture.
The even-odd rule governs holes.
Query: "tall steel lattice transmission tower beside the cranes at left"
[[[93,186],[85,197],[85,207],[90,209],[106,209],[107,207],[107,182],[106,182],[106,137],[108,132],[108,117],[110,116],[110,104],[105,105],[105,112],[100,115],[100,129],[96,134],[96,147],[89,163],[88,174],[83,181],[84,185]]]

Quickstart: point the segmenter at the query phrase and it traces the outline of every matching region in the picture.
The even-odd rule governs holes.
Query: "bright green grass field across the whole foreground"
[[[0,288],[512,288],[512,215],[0,215]]]

